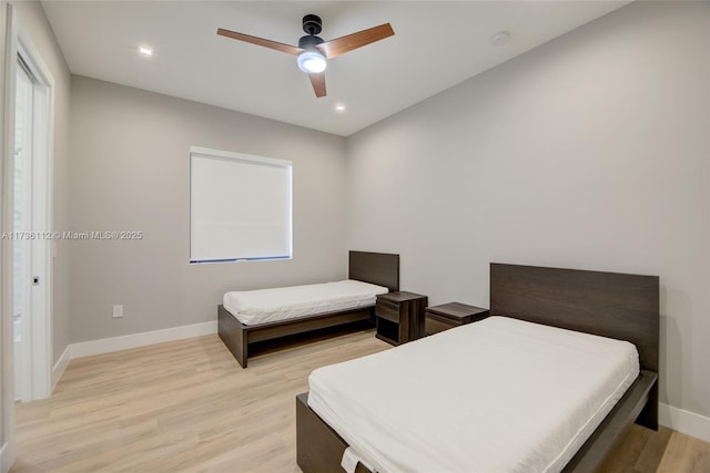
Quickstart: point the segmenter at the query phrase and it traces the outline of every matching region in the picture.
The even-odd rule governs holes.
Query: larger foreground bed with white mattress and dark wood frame
[[[657,277],[493,264],[490,297],[487,320],[312,373],[302,470],[592,471],[657,428]]]

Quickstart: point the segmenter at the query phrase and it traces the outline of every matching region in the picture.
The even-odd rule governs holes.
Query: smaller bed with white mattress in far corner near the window
[[[321,299],[306,286],[250,291],[240,297],[227,292],[224,304],[217,306],[217,333],[246,368],[254,343],[373,319],[374,294],[379,291],[363,291],[363,286],[369,285],[382,291],[398,290],[399,255],[349,251],[348,280],[318,285],[315,294]]]

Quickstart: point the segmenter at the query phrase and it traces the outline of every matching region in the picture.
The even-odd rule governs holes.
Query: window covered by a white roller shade
[[[190,263],[292,257],[292,163],[190,148]]]

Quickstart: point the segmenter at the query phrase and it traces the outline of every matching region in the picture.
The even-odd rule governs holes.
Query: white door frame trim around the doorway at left
[[[45,195],[41,198],[47,202],[47,213],[42,225],[38,229],[49,232],[52,228],[52,183],[53,183],[53,136],[54,136],[54,80],[44,64],[38,50],[27,34],[18,33],[18,21],[14,9],[7,0],[0,0],[0,230],[12,230],[12,179],[14,158],[14,79],[18,58],[18,48],[22,48],[26,58],[34,68],[33,73],[47,88],[47,121],[44,146],[47,164],[41,172],[45,177],[43,189]],[[43,132],[44,133],[44,132]],[[10,470],[16,457],[14,433],[14,387],[13,387],[13,327],[12,327],[12,240],[0,240],[0,473]],[[52,258],[54,255],[53,243],[45,239],[40,249],[45,251],[44,267],[39,276],[45,284],[40,286],[44,294],[45,317],[42,320],[33,320],[32,337],[38,337],[34,346],[41,346],[39,356],[33,357],[33,397],[36,399],[51,393],[52,383]]]

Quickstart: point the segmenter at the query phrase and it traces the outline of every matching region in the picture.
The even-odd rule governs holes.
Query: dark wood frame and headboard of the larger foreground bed
[[[491,263],[490,313],[627,340],[637,347],[641,373],[562,471],[595,471],[635,421],[658,430],[657,276]],[[307,393],[298,394],[296,451],[303,472],[342,471],[346,448],[308,408]],[[367,471],[362,464],[357,467]]]

